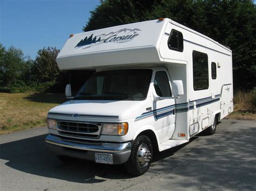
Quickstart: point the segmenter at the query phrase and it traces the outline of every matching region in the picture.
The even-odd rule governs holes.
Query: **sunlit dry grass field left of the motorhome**
[[[45,126],[47,112],[65,100],[63,94],[0,93],[0,134]]]

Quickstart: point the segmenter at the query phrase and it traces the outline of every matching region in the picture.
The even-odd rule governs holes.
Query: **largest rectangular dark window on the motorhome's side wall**
[[[194,90],[208,89],[208,56],[205,53],[193,51],[193,84]]]

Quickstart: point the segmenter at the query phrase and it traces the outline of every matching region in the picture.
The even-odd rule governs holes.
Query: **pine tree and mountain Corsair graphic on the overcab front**
[[[80,40],[75,48],[84,47],[83,49],[85,49],[102,43],[127,43],[139,36],[139,31],[141,30],[124,28],[116,32],[99,34],[98,36],[93,36],[93,34],[91,34],[91,36],[86,36],[84,39]]]

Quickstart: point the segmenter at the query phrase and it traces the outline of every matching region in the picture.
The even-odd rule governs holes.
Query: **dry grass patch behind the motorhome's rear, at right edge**
[[[225,118],[256,120],[256,93],[238,91],[234,94],[234,112]]]

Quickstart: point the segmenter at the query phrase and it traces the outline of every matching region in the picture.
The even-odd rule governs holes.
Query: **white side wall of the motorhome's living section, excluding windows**
[[[182,52],[174,51],[167,46],[173,29],[183,34],[184,49]],[[207,54],[208,88],[202,88],[202,90],[194,89],[193,51]],[[184,128],[187,129],[186,137],[189,139],[211,126],[215,115],[220,114],[220,118],[223,118],[233,111],[232,52],[230,49],[203,34],[171,21],[166,25],[159,52],[172,80],[183,80],[184,83],[184,95],[176,100],[176,132],[172,139],[183,139],[179,137],[179,133],[184,133]],[[182,65],[182,62],[185,62],[185,65]],[[216,65],[216,78],[212,74],[212,62]],[[227,91],[228,89],[230,91]],[[183,104],[183,110],[179,109],[181,104]]]

